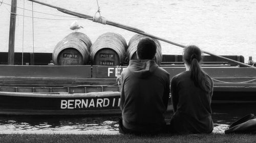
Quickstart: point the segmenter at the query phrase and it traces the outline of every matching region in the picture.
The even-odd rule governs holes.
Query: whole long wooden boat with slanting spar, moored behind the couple
[[[53,8],[78,17],[91,18],[58,7]],[[11,18],[13,17],[11,15]],[[111,21],[109,23],[114,24]],[[119,26],[144,36],[184,47],[146,34],[133,27]],[[77,42],[75,39],[72,40]],[[63,43],[67,43],[67,41],[64,39],[57,45]],[[87,43],[86,45],[90,44]],[[84,54],[87,52],[88,50]],[[74,54],[73,51],[71,53],[59,53],[62,54],[62,58],[73,58],[72,60],[74,60],[75,57],[79,59],[77,58],[79,54]],[[204,51],[204,53],[208,52]],[[0,114],[103,115],[120,113],[118,107],[120,88],[117,77],[123,68],[126,68],[129,61],[121,60],[122,66],[119,66],[120,64],[113,66],[115,65],[113,61],[101,62],[102,64],[97,65],[94,63],[97,60],[91,59],[89,61],[82,57],[79,62],[68,63],[85,63],[87,61],[86,64],[61,65],[56,62],[59,60],[58,58],[54,61],[55,64],[53,63],[54,53],[13,54],[13,64],[7,65],[10,63],[10,53],[0,52]],[[204,56],[202,67],[214,79],[213,102],[256,102],[255,67],[247,66],[241,55],[218,56],[208,54],[210,55]],[[108,57],[121,59],[121,56],[110,54],[109,50],[105,50],[103,54],[95,53],[95,55],[102,56],[104,59],[108,59]],[[170,80],[185,70],[181,55],[162,55],[161,59],[161,61],[158,60],[160,61],[159,65],[170,73]],[[172,104],[169,100],[168,111],[170,110],[172,110]]]

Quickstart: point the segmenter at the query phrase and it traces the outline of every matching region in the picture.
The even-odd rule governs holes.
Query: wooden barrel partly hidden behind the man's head
[[[150,37],[147,37],[147,36],[144,36],[144,35],[140,35],[140,34],[136,34],[134,35],[131,40],[129,41],[129,45],[128,45],[128,48],[126,50],[126,55],[127,55],[127,58],[128,60],[137,60],[137,46],[138,46],[138,43],[141,39],[144,39],[144,38],[150,38]],[[153,38],[151,38],[153,39]],[[154,60],[156,61],[156,63],[158,65],[161,64],[162,62],[162,48],[161,48],[161,44],[158,40],[156,39],[153,39],[156,43],[156,46],[157,46],[157,52],[156,52],[156,55],[155,55],[155,58]]]

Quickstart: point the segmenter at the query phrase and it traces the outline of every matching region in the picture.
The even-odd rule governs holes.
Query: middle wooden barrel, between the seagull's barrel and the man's
[[[91,46],[91,61],[94,65],[121,65],[126,48],[126,41],[120,34],[104,33]]]

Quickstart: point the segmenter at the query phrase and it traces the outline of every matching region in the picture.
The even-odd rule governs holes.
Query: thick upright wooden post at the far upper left
[[[12,0],[11,16],[10,16],[10,32],[9,32],[8,65],[14,65],[16,9],[17,9],[17,0]]]

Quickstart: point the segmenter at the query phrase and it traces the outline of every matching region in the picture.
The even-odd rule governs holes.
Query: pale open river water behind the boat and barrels
[[[41,0],[40,2],[91,16],[94,16],[98,10],[96,0]],[[8,51],[10,6],[7,4],[11,4],[11,0],[4,0],[4,3],[0,6],[0,51]],[[183,45],[195,44],[215,54],[243,55],[246,62],[248,56],[256,59],[255,0],[98,0],[98,3],[101,16],[108,20],[134,26],[149,34]],[[23,30],[23,9],[20,9],[23,8],[23,0],[17,0],[17,6],[19,7],[15,37],[17,52],[52,52],[54,46],[72,32],[69,25],[77,19],[61,17],[69,15],[34,3],[34,24],[32,24],[32,12],[26,10]],[[32,10],[32,3],[25,1],[25,9]],[[132,32],[94,23],[91,20],[78,19],[78,23],[84,26],[78,32],[87,34],[92,42],[106,32],[119,33],[127,42],[134,35]],[[33,27],[34,31],[32,31]],[[24,46],[22,46],[23,39]],[[182,49],[177,46],[164,42],[161,44],[162,52],[165,54],[182,53]]]

